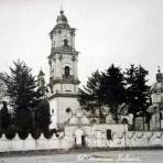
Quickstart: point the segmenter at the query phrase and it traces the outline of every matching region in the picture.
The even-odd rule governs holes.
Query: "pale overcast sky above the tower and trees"
[[[48,82],[48,33],[61,6],[77,29],[80,85],[112,63],[141,64],[155,82],[157,66],[163,69],[162,0],[0,0],[0,72],[22,59],[34,75],[42,68]]]

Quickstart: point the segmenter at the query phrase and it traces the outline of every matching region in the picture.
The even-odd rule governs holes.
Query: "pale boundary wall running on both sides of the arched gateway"
[[[87,131],[89,128],[87,127]],[[108,140],[106,134],[93,137],[86,135],[87,148],[160,148],[163,146],[162,131],[127,131],[112,132],[112,139]],[[3,134],[0,139],[0,152],[11,151],[35,151],[35,150],[69,150],[75,146],[74,137],[64,135],[45,139],[42,134],[39,140],[34,140],[31,135],[25,140],[21,140],[18,134],[12,140],[8,140]]]

